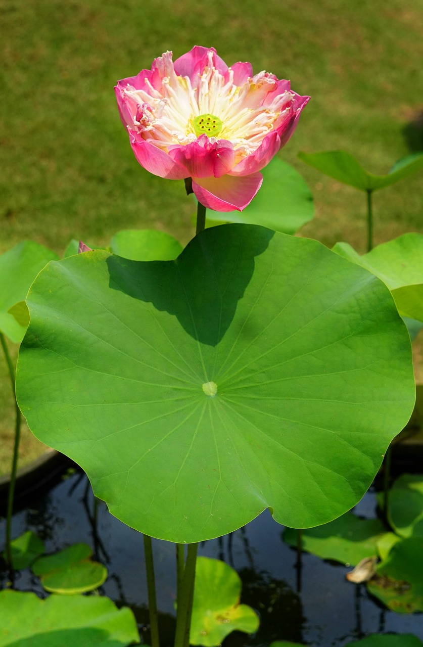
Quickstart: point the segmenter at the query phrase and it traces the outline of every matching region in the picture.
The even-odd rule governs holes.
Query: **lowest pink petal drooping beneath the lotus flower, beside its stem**
[[[198,201],[213,211],[242,211],[261,187],[263,175],[253,173],[244,177],[193,178],[192,188]]]

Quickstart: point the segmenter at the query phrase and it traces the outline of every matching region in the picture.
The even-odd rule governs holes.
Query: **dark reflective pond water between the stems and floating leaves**
[[[355,511],[371,517],[375,507],[371,488]],[[98,560],[109,569],[101,592],[118,606],[125,604],[133,609],[142,638],[149,642],[142,536],[111,516],[104,503],[98,503],[96,521],[93,510],[94,498],[87,477],[76,472],[63,477],[48,492],[34,497],[30,507],[16,513],[13,536],[30,529],[45,540],[48,553],[75,542],[91,545]],[[2,519],[2,538],[4,532]],[[261,617],[256,635],[233,633],[225,646],[268,645],[283,639],[313,647],[342,647],[352,639],[389,632],[414,633],[423,639],[421,614],[398,615],[382,609],[363,585],[345,580],[345,573],[351,570],[347,567],[303,554],[299,578],[296,551],[285,545],[282,532],[283,527],[265,512],[243,529],[199,547],[199,554],[222,559],[237,570],[243,580],[242,601]],[[175,627],[175,546],[153,540],[153,549],[160,631],[166,646],[171,644]],[[1,586],[6,586],[6,582],[6,573],[0,571]],[[30,571],[18,575],[15,587],[45,596]]]

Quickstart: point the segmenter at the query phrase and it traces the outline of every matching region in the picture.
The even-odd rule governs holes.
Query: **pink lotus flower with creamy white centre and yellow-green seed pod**
[[[171,180],[192,178],[215,211],[242,211],[261,186],[260,171],[296,127],[308,96],[250,63],[228,67],[215,49],[165,52],[115,87],[120,117],[138,162]]]

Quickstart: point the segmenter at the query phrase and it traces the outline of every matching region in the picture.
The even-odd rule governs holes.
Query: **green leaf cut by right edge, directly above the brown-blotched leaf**
[[[388,497],[388,518],[402,537],[423,537],[423,477],[402,474]]]

